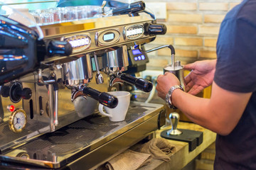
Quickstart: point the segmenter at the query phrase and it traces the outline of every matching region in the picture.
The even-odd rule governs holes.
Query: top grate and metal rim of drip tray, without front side
[[[3,153],[0,155],[0,160],[36,166],[51,164],[51,166],[59,168],[143,123],[151,116],[158,114],[159,111],[157,110],[162,107],[151,103],[141,105],[131,103],[126,120],[117,123],[111,122],[109,118],[97,113],[92,114],[55,132],[41,135],[21,147]],[[19,154],[21,152],[26,153],[26,162],[22,162],[20,158],[15,159],[21,155]],[[11,159],[6,159],[6,156]],[[47,164],[42,163],[46,161]]]

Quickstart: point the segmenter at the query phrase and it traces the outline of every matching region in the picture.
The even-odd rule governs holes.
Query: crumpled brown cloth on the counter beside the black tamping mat
[[[169,162],[171,155],[176,152],[176,147],[164,138],[153,138],[137,149],[137,152],[151,154],[154,159]]]

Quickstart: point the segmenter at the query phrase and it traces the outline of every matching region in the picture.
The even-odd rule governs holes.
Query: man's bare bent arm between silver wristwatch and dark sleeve
[[[171,101],[194,123],[220,135],[228,135],[238,124],[252,93],[236,93],[213,83],[210,99],[177,89]]]

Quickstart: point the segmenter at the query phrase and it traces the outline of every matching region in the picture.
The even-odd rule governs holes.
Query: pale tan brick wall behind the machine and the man
[[[174,45],[176,60],[181,64],[196,60],[215,59],[215,47],[220,23],[225,14],[242,0],[144,0],[165,2],[166,20],[158,20],[167,26],[166,35],[158,35],[146,49],[159,45]],[[165,10],[165,9],[163,9]],[[168,48],[151,52],[147,69],[161,70],[171,62]]]

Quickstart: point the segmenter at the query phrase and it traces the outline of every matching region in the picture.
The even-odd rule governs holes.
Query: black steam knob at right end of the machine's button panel
[[[164,35],[167,31],[166,25],[161,23],[145,23],[144,28],[147,35]]]

